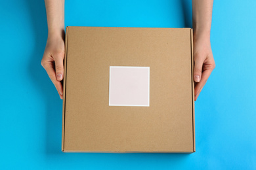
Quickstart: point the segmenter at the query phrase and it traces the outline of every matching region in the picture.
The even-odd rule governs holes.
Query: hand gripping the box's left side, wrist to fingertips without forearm
[[[45,52],[41,65],[47,71],[47,74],[51,78],[60,99],[63,99],[63,88],[61,80],[64,75],[64,59],[65,45],[64,36],[50,36],[47,39]]]

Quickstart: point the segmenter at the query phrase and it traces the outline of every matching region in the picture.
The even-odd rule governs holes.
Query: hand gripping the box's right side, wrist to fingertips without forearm
[[[194,33],[194,81],[195,101],[215,68],[209,37]]]

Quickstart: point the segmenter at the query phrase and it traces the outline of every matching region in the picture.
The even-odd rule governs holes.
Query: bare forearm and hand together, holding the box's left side
[[[48,39],[45,53],[41,60],[41,65],[51,78],[60,99],[63,99],[63,80],[64,66],[63,59],[65,53],[64,45],[64,0],[45,0],[47,13]]]

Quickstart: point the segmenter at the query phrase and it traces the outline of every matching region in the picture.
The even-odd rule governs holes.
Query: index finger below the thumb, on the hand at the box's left
[[[49,63],[45,65],[45,70],[47,71],[47,74],[51,78],[51,81],[53,82],[56,90],[58,91],[59,95],[63,95],[63,88],[60,81],[56,79],[56,73],[54,71],[53,63]],[[60,96],[60,98],[62,98]]]

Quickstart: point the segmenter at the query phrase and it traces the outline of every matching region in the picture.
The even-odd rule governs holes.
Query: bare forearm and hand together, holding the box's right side
[[[192,0],[194,31],[195,101],[215,68],[211,52],[210,31],[213,0]]]

